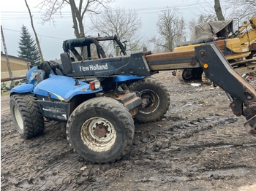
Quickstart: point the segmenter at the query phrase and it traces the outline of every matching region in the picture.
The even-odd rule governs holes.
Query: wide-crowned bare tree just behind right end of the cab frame
[[[113,36],[127,40],[127,50],[138,49],[140,43],[141,21],[135,9],[107,9],[100,15],[91,16],[92,27],[100,35]]]

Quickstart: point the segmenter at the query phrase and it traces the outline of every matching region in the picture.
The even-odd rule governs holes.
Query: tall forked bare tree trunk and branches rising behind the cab
[[[71,9],[73,28],[76,38],[84,37],[83,18],[88,13],[99,14],[102,8],[113,0],[43,0],[38,5],[40,9],[45,10],[45,17],[43,22],[53,21],[53,16],[56,14],[61,15],[61,10],[65,6]]]

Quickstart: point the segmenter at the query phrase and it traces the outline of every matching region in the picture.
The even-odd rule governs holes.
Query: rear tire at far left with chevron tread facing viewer
[[[11,95],[10,112],[15,129],[24,139],[31,139],[44,133],[45,124],[42,112],[34,95]]]

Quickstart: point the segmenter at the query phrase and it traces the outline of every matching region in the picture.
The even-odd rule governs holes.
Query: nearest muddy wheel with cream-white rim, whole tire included
[[[110,163],[127,155],[134,133],[131,114],[113,98],[83,102],[67,122],[69,144],[92,163]]]

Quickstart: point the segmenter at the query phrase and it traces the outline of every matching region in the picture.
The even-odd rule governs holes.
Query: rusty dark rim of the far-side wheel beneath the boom
[[[159,106],[159,96],[153,90],[143,90],[140,92],[142,98],[142,109],[140,113],[149,114],[157,110]]]

